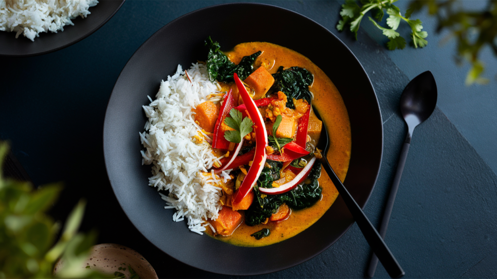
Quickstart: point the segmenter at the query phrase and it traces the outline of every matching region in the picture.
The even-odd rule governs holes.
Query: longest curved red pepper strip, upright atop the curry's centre
[[[255,155],[253,157],[252,165],[248,169],[248,173],[233,199],[233,203],[237,204],[252,190],[253,185],[257,179],[259,179],[262,168],[264,168],[264,163],[267,158],[267,132],[262,115],[260,115],[259,109],[257,109],[254,101],[250,95],[248,95],[242,80],[240,80],[237,73],[233,74],[233,78],[235,79],[235,83],[237,83],[238,91],[240,91],[240,96],[247,107],[248,116],[252,119],[253,127],[255,128]]]

